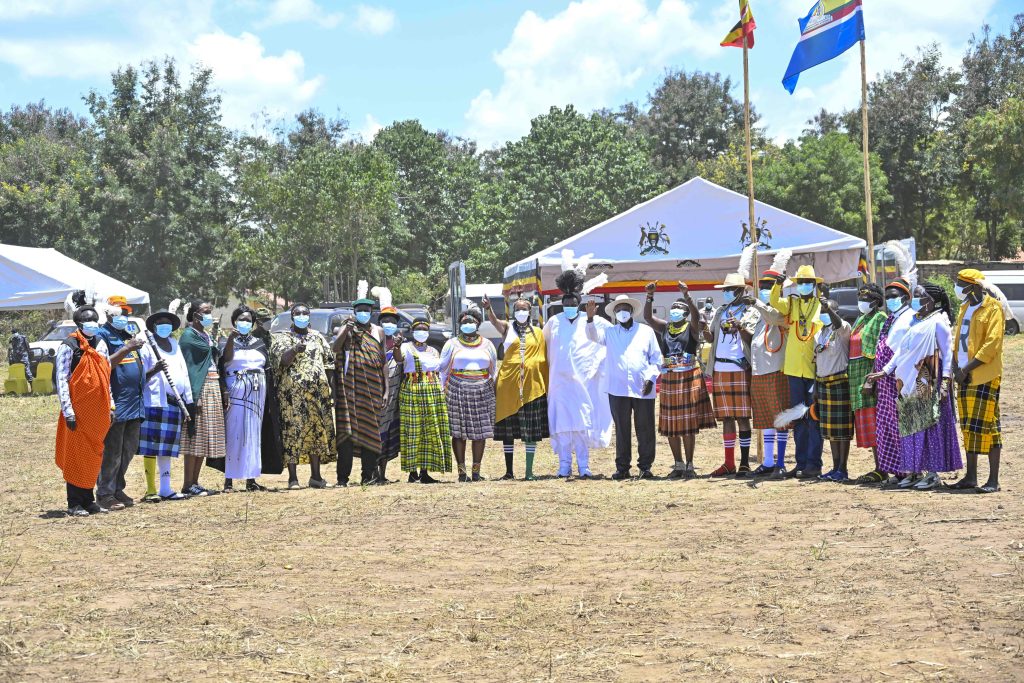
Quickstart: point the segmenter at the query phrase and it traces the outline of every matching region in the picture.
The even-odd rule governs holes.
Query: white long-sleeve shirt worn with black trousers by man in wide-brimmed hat
[[[636,321],[629,329],[622,325],[604,328],[588,323],[587,338],[602,344],[608,351],[604,364],[610,395],[654,398],[653,391],[646,396],[643,393],[643,385],[662,374],[662,348],[653,330]]]

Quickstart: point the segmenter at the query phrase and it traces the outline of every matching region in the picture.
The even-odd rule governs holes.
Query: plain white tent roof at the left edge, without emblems
[[[60,308],[75,290],[120,294],[137,306],[150,295],[65,256],[56,249],[0,245],[0,310]]]

